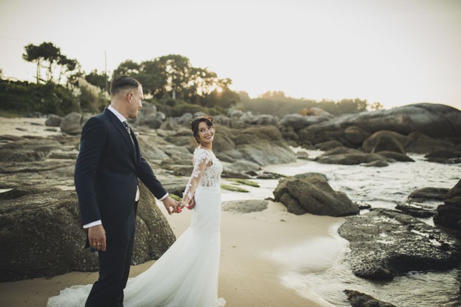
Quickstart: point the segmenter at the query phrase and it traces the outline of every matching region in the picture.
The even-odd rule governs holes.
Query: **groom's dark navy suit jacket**
[[[166,190],[144,160],[134,133],[109,109],[90,118],[81,131],[74,182],[82,225],[101,220],[106,232],[127,221],[135,206],[138,178],[159,199]]]

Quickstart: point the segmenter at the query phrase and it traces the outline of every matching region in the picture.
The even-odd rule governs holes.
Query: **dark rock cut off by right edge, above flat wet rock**
[[[444,204],[437,207],[434,223],[454,230],[461,238],[461,180],[447,192]]]

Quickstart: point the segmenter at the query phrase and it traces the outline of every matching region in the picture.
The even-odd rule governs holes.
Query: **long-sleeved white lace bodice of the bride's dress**
[[[198,187],[219,187],[221,183],[222,164],[212,151],[195,148],[193,162],[191,179],[182,193],[186,202],[194,197]]]

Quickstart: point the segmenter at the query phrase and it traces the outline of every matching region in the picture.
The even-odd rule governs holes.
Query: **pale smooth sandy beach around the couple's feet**
[[[186,210],[171,216],[164,208],[162,212],[176,236],[190,224],[190,212]],[[229,307],[332,306],[315,293],[283,286],[282,279],[290,264],[270,255],[276,253],[283,257],[282,251],[286,249],[285,260],[292,259],[289,253],[292,247],[328,237],[329,229],[341,220],[311,214],[297,216],[286,212],[282,204],[273,202],[262,212],[222,212],[219,296]],[[298,262],[306,261],[309,261],[307,255],[298,255]],[[154,262],[132,266],[130,277],[148,269]],[[2,306],[45,306],[48,297],[57,295],[60,290],[74,284],[93,283],[96,279],[97,272],[71,272],[51,278],[0,283],[0,303]]]

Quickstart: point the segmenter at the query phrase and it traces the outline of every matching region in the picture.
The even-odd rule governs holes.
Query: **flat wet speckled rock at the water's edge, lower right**
[[[338,230],[349,240],[354,275],[389,280],[409,271],[448,270],[461,261],[461,244],[437,227],[388,209],[348,217]]]

